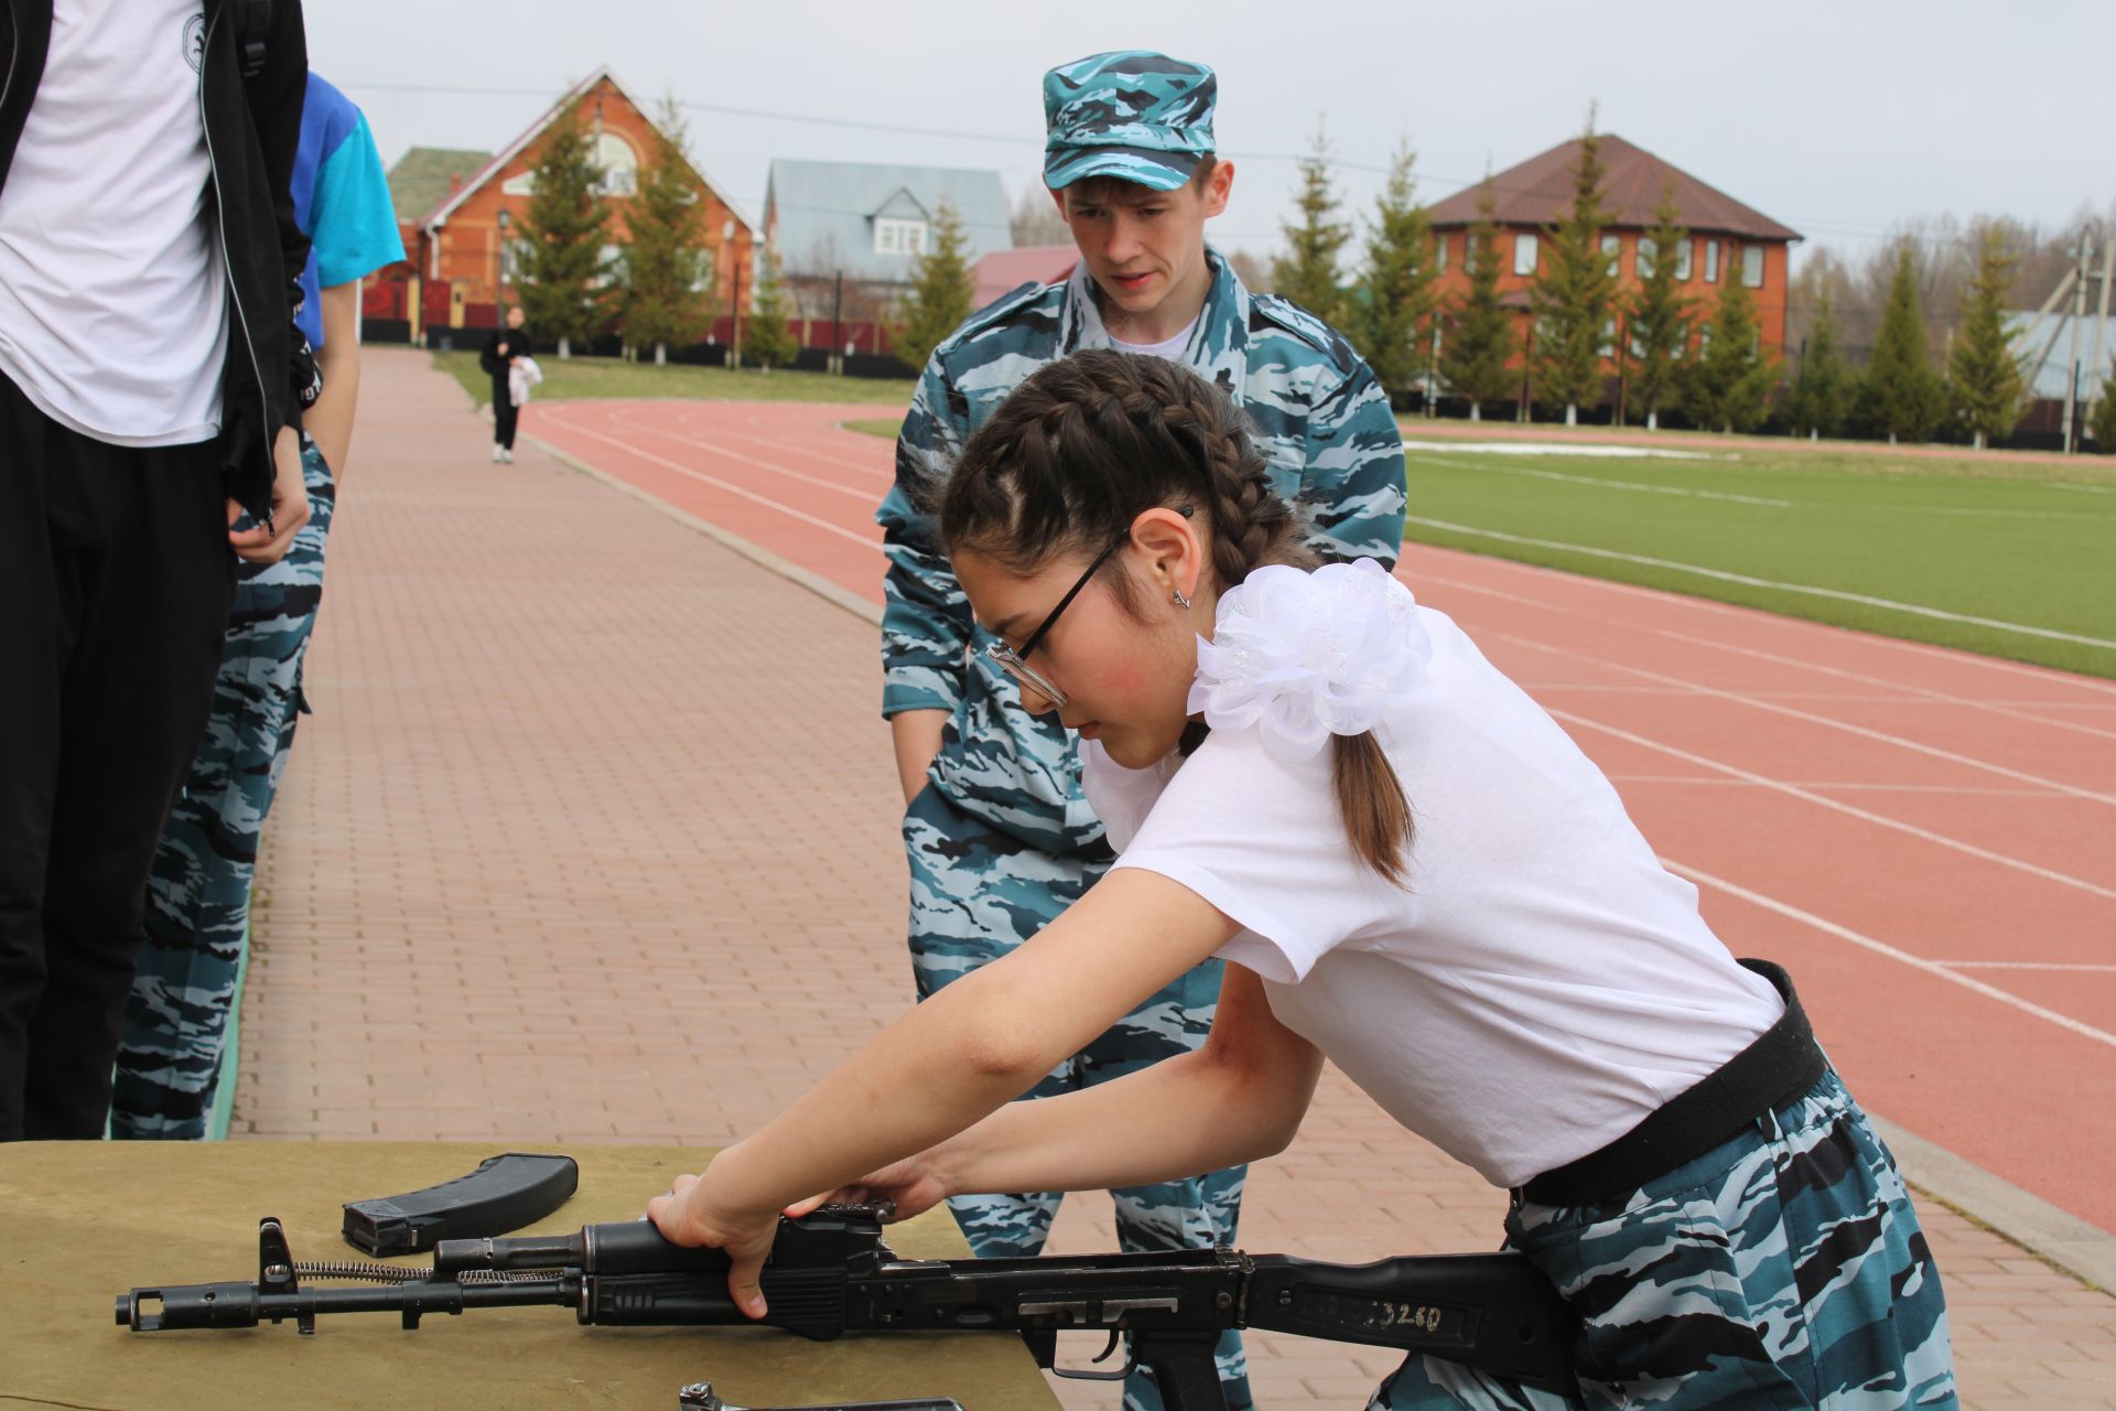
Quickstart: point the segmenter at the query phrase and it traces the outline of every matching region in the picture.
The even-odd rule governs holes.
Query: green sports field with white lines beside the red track
[[[1405,537],[2116,677],[2116,468],[1409,444]]]

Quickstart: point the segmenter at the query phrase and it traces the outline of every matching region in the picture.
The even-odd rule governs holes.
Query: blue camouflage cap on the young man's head
[[[1219,78],[1204,63],[1119,49],[1043,74],[1043,184],[1115,176],[1174,190],[1212,150]]]

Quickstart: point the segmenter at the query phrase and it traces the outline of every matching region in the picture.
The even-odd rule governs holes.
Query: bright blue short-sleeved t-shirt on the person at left
[[[294,148],[294,222],[309,237],[300,271],[300,330],[324,347],[322,290],[351,283],[404,258],[389,178],[368,121],[353,99],[309,74]]]

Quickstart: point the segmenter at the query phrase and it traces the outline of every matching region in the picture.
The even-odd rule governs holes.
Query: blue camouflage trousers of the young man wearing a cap
[[[997,960],[1081,899],[1109,869],[1109,848],[1073,855],[1043,853],[950,804],[927,785],[904,814],[912,872],[910,948],[918,998]],[[1054,1098],[1136,1073],[1204,1043],[1219,1005],[1221,965],[1200,965],[1134,1009],[1115,1028],[1037,1083],[1024,1100]],[[1191,1180],[1111,1191],[1117,1242],[1126,1250],[1212,1248],[1236,1244],[1242,1178],[1248,1168]],[[1060,1193],[956,1195],[950,1199],[963,1235],[980,1259],[1037,1254],[1058,1214]],[[1229,1411],[1251,1405],[1242,1335],[1227,1333],[1215,1350]],[[1153,1377],[1126,1377],[1130,1411],[1162,1411]]]

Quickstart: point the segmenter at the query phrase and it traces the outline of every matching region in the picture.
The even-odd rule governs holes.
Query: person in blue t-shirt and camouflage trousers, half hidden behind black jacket
[[[294,220],[309,235],[298,326],[324,374],[303,417],[309,523],[286,558],[235,575],[214,715],[148,874],[146,943],[110,1102],[116,1138],[205,1136],[250,946],[258,833],[307,709],[300,664],[324,597],[324,544],[360,402],[360,281],[404,258],[375,135],[360,108],[315,74],[292,193]]]

